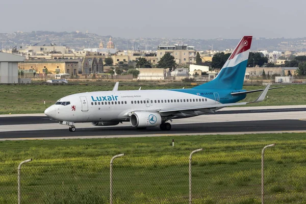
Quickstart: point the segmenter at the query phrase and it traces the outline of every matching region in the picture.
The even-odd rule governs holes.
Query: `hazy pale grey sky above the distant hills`
[[[113,37],[306,37],[305,0],[3,0],[0,33],[82,31]]]

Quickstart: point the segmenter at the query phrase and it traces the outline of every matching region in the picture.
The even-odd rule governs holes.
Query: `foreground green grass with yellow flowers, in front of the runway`
[[[18,163],[23,203],[187,203],[188,158],[193,203],[260,203],[261,150],[266,150],[266,203],[302,203],[305,134],[173,136],[0,142],[0,203],[16,203]],[[174,139],[175,146],[171,141]]]

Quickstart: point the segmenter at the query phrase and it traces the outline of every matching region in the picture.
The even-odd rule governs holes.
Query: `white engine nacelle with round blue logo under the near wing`
[[[130,117],[133,127],[154,127],[162,123],[162,117],[158,113],[135,112]]]

